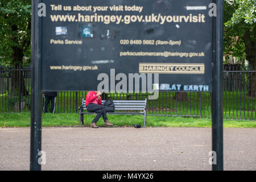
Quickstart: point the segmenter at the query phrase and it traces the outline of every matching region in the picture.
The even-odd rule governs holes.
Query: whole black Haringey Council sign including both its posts
[[[212,169],[223,170],[222,14],[223,0],[32,1],[30,169],[41,169],[42,91],[154,73],[160,90],[212,92]]]

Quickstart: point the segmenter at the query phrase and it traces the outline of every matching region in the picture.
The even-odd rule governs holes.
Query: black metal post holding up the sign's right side
[[[213,92],[212,151],[216,152],[213,171],[223,170],[223,0],[217,0],[217,17],[213,17]]]

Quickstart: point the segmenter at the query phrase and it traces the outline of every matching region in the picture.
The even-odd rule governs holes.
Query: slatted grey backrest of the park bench
[[[105,100],[102,101],[102,105],[104,104]],[[147,106],[147,99],[145,100],[113,100],[115,110],[145,110]],[[87,110],[85,106],[85,100],[82,99],[82,109]]]

